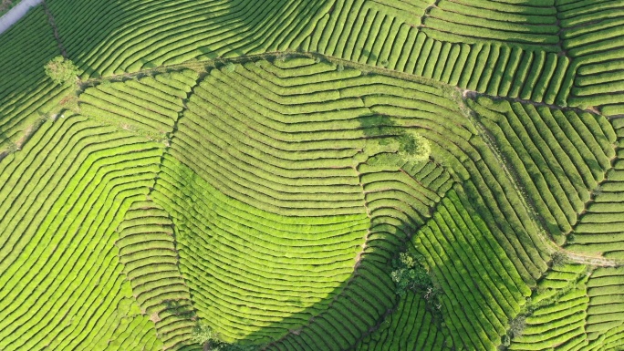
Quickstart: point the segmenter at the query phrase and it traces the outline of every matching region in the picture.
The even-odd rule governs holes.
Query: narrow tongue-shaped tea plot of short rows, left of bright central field
[[[153,201],[130,205],[117,227],[120,263],[132,294],[155,322],[167,349],[189,349],[194,311],[191,295],[178,269],[173,222]],[[184,347],[187,346],[187,347]],[[196,346],[197,347],[197,346]]]

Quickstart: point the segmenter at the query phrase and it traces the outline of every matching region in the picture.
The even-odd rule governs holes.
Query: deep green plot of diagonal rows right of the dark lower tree
[[[442,204],[438,206],[439,212],[434,214],[433,221],[428,222],[415,236],[413,243],[416,250],[427,258],[435,274],[435,282],[442,285],[444,292],[442,300],[447,307],[447,309],[442,309],[444,319],[447,319],[447,315],[459,313],[457,308],[452,307],[452,304],[455,304],[453,301],[456,299],[461,299],[465,301],[462,314],[467,315],[458,315],[458,319],[468,318],[479,321],[473,323],[470,328],[462,324],[454,325],[456,331],[451,330],[451,333],[460,333],[462,336],[472,335],[470,340],[473,341],[473,347],[487,348],[488,346],[486,344],[482,346],[481,342],[497,344],[499,336],[504,334],[504,324],[507,320],[505,315],[515,315],[519,311],[519,302],[522,301],[523,296],[515,292],[525,284],[519,275],[511,279],[506,274],[500,275],[504,269],[502,269],[500,259],[491,254],[490,247],[481,251],[478,243],[482,243],[483,238],[491,237],[492,234],[487,230],[481,232],[477,229],[478,227],[474,224],[476,222],[471,219],[464,206],[454,192],[447,195],[442,200]],[[445,210],[440,212],[441,208]],[[490,245],[494,244],[494,248],[498,247],[494,249],[494,253],[502,253],[502,248],[493,239],[488,239],[488,241]],[[447,263],[442,264],[443,262]],[[463,268],[462,264],[468,264],[469,267]],[[514,271],[509,274],[514,275],[512,272]],[[466,276],[467,274],[470,277]],[[466,279],[480,283],[477,284],[476,289],[473,289],[473,284]],[[516,287],[515,282],[519,282],[520,285]],[[524,287],[524,290],[525,294],[528,294],[528,289]],[[446,296],[446,294],[452,294],[452,296]],[[477,303],[482,300],[483,302]],[[477,305],[481,307],[477,308]],[[469,306],[471,308],[468,308]],[[484,310],[484,306],[488,306],[488,309]],[[477,313],[477,311],[480,312]],[[452,322],[454,321],[446,321],[447,325]],[[464,345],[469,342],[465,337],[463,339]],[[477,340],[480,341],[476,342]]]

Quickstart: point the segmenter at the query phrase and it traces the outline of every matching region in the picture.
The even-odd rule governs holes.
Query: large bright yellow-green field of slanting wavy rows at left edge
[[[102,347],[111,343],[134,349],[138,347],[134,342],[137,339],[149,349],[161,348],[153,324],[150,325],[145,317],[136,316],[137,310],[130,304],[122,303],[130,301],[130,286],[123,283],[122,267],[116,254],[109,250],[112,243],[109,233],[121,221],[119,213],[129,206],[124,199],[132,199],[141,192],[144,194],[147,190],[145,179],[153,179],[155,175],[151,164],[158,162],[159,158],[154,155],[151,160],[149,157],[140,160],[141,151],[148,150],[149,153],[154,145],[141,144],[128,134],[115,134],[114,129],[80,117],[46,124],[40,131],[44,134],[42,138],[34,138],[36,143],[29,144],[32,147],[25,150],[24,156],[20,154],[12,161],[36,165],[37,162],[28,160],[27,155],[30,149],[41,149],[44,146],[41,142],[46,142],[45,146],[52,148],[49,154],[56,156],[47,160],[45,172],[21,172],[25,185],[39,184],[31,192],[22,192],[16,198],[23,199],[21,203],[27,206],[20,215],[28,216],[28,220],[22,222],[37,228],[31,231],[24,226],[16,227],[17,231],[30,233],[29,237],[24,237],[27,240],[19,244],[22,249],[18,253],[26,250],[33,255],[18,260],[3,256],[11,260],[4,262],[9,265],[4,270],[6,290],[3,291],[13,295],[14,306],[29,304],[36,306],[38,312],[25,318],[20,316],[23,314],[19,310],[3,307],[3,348],[48,345],[55,349],[70,349],[88,345]],[[50,134],[53,131],[56,137]],[[105,139],[109,141],[99,139],[99,135],[107,135]],[[134,152],[127,153],[125,149],[129,146]],[[120,150],[117,156],[106,156],[106,152],[116,149]],[[3,173],[10,169],[2,167]],[[10,190],[5,188],[4,191]],[[71,196],[73,191],[78,196]],[[25,199],[41,196],[46,201]],[[71,220],[59,213],[66,213]],[[3,225],[3,228],[11,227]],[[16,233],[19,232],[3,235]],[[18,291],[24,291],[26,281],[16,281],[15,269],[30,272],[27,284],[47,288],[28,288],[32,293],[29,296],[19,294]],[[70,324],[65,318],[68,314],[74,315]],[[21,322],[15,323],[16,318]],[[130,329],[120,329],[123,318],[129,318]],[[30,332],[20,331],[25,327]],[[11,336],[5,336],[9,330]],[[36,333],[40,330],[46,332]],[[126,330],[132,331],[131,337]]]

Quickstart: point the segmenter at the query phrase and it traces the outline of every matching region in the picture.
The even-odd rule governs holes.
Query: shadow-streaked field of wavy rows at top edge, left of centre
[[[296,47],[331,4],[132,0],[111,5],[51,0],[48,5],[68,57],[86,78]]]

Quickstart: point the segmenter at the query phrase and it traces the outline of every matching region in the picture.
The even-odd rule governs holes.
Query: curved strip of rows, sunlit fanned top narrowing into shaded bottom
[[[373,162],[369,160],[358,166],[371,219],[367,241],[359,253],[352,280],[330,305],[331,308],[316,315],[301,331],[278,340],[269,349],[348,349],[359,343],[369,333],[370,325],[379,324],[384,312],[397,304],[388,262],[431,216],[437,202],[451,187],[452,180],[448,172],[428,160],[390,165],[369,163]],[[359,310],[369,313],[362,315],[357,312]],[[439,335],[422,341],[438,346],[445,337],[442,333]],[[368,336],[363,340],[368,340]]]

